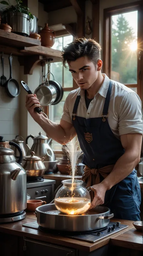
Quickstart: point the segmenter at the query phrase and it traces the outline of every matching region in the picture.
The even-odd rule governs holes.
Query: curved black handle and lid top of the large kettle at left
[[[10,148],[10,146],[12,146],[13,149],[15,148],[19,152],[19,158],[16,161],[18,164],[21,164],[22,158],[23,158],[23,153],[22,153],[22,149],[20,148],[20,146],[17,145],[17,143],[15,143],[14,141],[5,141],[5,140],[3,140],[3,136],[0,136],[0,148],[1,147],[2,148]]]

